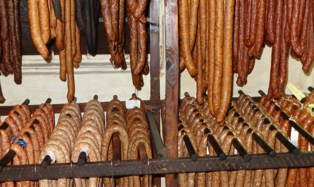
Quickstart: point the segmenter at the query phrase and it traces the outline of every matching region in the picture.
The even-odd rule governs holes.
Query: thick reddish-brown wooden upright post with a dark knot
[[[165,0],[166,112],[163,126],[167,157],[177,157],[179,100],[178,1]],[[177,175],[166,174],[166,186],[178,186]]]

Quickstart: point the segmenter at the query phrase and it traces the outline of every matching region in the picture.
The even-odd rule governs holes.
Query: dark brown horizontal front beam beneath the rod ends
[[[86,162],[82,166],[76,163],[50,164],[47,168],[36,164],[36,171],[34,164],[10,165],[0,173],[0,181],[101,177],[111,176],[111,172],[117,176],[309,166],[314,166],[314,152],[302,152],[299,155],[277,153],[274,158],[268,154],[251,154],[248,162],[240,155],[227,155],[225,160],[220,160],[218,156],[208,156],[198,157],[196,162],[189,157],[149,159],[147,164],[142,164],[139,159],[121,160],[117,167],[111,165],[111,161]]]

